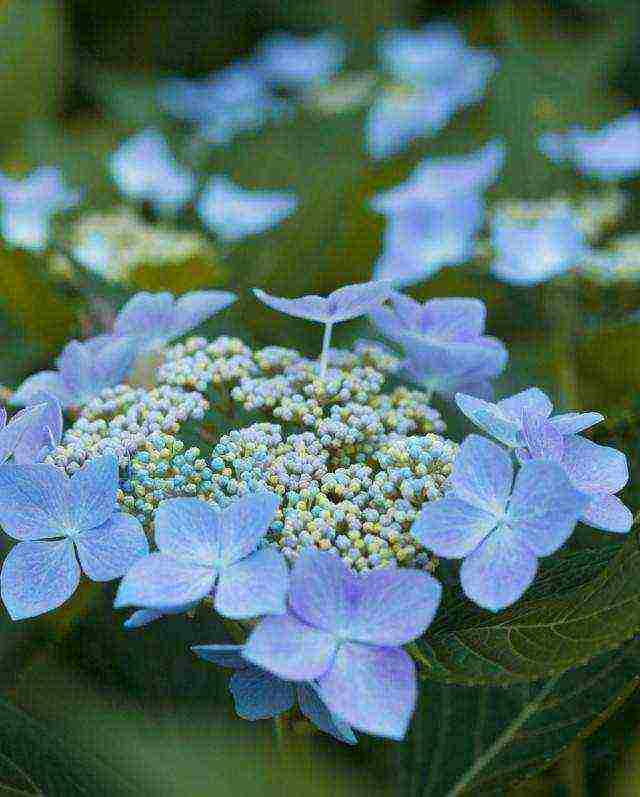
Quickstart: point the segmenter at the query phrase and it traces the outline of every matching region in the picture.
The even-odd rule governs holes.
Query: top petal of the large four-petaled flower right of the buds
[[[507,452],[477,434],[460,447],[449,478],[457,498],[493,515],[504,511],[513,484],[513,465]]]

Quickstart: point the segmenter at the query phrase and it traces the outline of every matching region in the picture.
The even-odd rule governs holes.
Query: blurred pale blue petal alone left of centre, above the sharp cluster
[[[291,191],[250,191],[227,177],[214,175],[196,210],[203,223],[223,241],[259,235],[290,216],[298,205]]]

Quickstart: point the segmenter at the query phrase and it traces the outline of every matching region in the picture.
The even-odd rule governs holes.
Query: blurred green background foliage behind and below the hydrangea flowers
[[[3,0],[0,167],[20,175],[38,164],[60,165],[69,182],[84,189],[86,207],[108,208],[119,201],[105,165],[118,142],[153,123],[184,143],[184,130],[157,109],[158,78],[206,74],[246,55],[264,34],[278,29],[335,29],[350,43],[349,65],[371,68],[381,29],[442,18],[456,22],[471,43],[494,48],[500,58],[501,69],[483,103],[456,115],[438,137],[420,140],[385,161],[374,162],[364,152],[364,109],[324,117],[321,123],[312,110],[300,111],[224,148],[198,151],[194,157],[207,173],[224,172],[247,187],[294,189],[301,197],[299,211],[268,236],[234,246],[224,259],[196,259],[188,267],[143,266],[134,275],[137,288],[232,286],[241,301],[210,324],[209,333],[224,329],[282,345],[296,340],[313,353],[319,341],[310,327],[275,316],[250,298],[248,288],[260,285],[295,296],[368,279],[380,252],[383,221],[366,200],[405,179],[427,155],[468,152],[502,136],[507,162],[490,199],[587,191],[586,181],[552,165],[533,142],[546,130],[568,123],[598,125],[637,107],[640,3]],[[638,189],[638,180],[629,186],[625,225],[630,231],[640,221]],[[117,287],[110,291],[113,302],[125,296]],[[81,334],[86,294],[86,285],[83,291],[64,281],[52,284],[38,258],[0,247],[0,381],[15,385],[47,367],[66,340]],[[497,283],[476,263],[444,269],[412,294],[483,298],[491,332],[511,351],[499,389],[508,393],[540,384],[560,395],[566,362],[558,361],[562,353],[554,340],[554,319],[545,312],[544,286]],[[640,413],[640,322],[624,320],[622,310],[640,306],[640,289],[581,284],[579,296],[581,331],[573,365],[580,407],[572,409],[598,408],[615,416],[601,441],[613,439],[627,453],[633,450],[637,481],[638,444],[625,418]],[[363,331],[363,325],[338,329],[338,345]],[[634,506],[637,510],[638,503]],[[403,794],[417,796],[427,794],[423,779],[416,785],[404,778],[398,785],[406,756],[417,755],[413,764],[432,783],[441,779],[439,788],[450,788],[447,759],[451,751],[464,755],[456,746],[459,727],[469,715],[492,711],[491,690],[459,691],[452,703],[450,688],[434,684],[423,699],[450,705],[448,722],[416,729],[409,748],[365,742],[350,750],[302,736],[295,749],[281,755],[268,723],[235,718],[226,674],[194,660],[187,649],[189,643],[224,641],[224,629],[198,615],[125,632],[122,616],[110,609],[111,597],[84,585],[68,606],[50,616],[19,624],[4,613],[0,617],[0,793],[357,797],[396,795],[402,788]],[[621,655],[616,663],[596,660],[589,673],[579,671],[576,677],[595,677],[595,670],[605,668],[606,677],[619,680],[611,691],[622,708],[611,711],[597,695],[589,696],[588,706],[578,706],[574,697],[567,709],[575,711],[574,722],[582,723],[585,739],[587,728],[595,732],[572,743],[568,752],[575,733],[554,737],[553,755],[545,747],[536,758],[537,768],[545,771],[514,794],[640,793],[639,659],[635,648]],[[565,686],[571,691],[570,684]],[[515,689],[514,710],[528,697]],[[559,720],[551,720],[541,717],[542,727],[551,721],[557,730]],[[427,760],[425,740],[433,734],[439,735],[438,746],[428,749],[438,758]],[[498,762],[506,769],[518,763],[517,750],[509,755]],[[490,780],[484,785],[497,787]]]

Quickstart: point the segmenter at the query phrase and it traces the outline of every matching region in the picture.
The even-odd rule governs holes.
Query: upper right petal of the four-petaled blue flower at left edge
[[[118,507],[118,460],[113,454],[89,460],[69,483],[69,516],[76,532],[102,526]]]

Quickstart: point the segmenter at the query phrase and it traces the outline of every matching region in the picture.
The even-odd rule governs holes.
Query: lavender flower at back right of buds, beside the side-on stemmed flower
[[[370,312],[374,324],[402,345],[409,378],[452,396],[458,390],[491,393],[490,380],[507,362],[504,345],[484,335],[486,308],[478,299],[430,299],[423,305],[393,292],[390,306]]]

